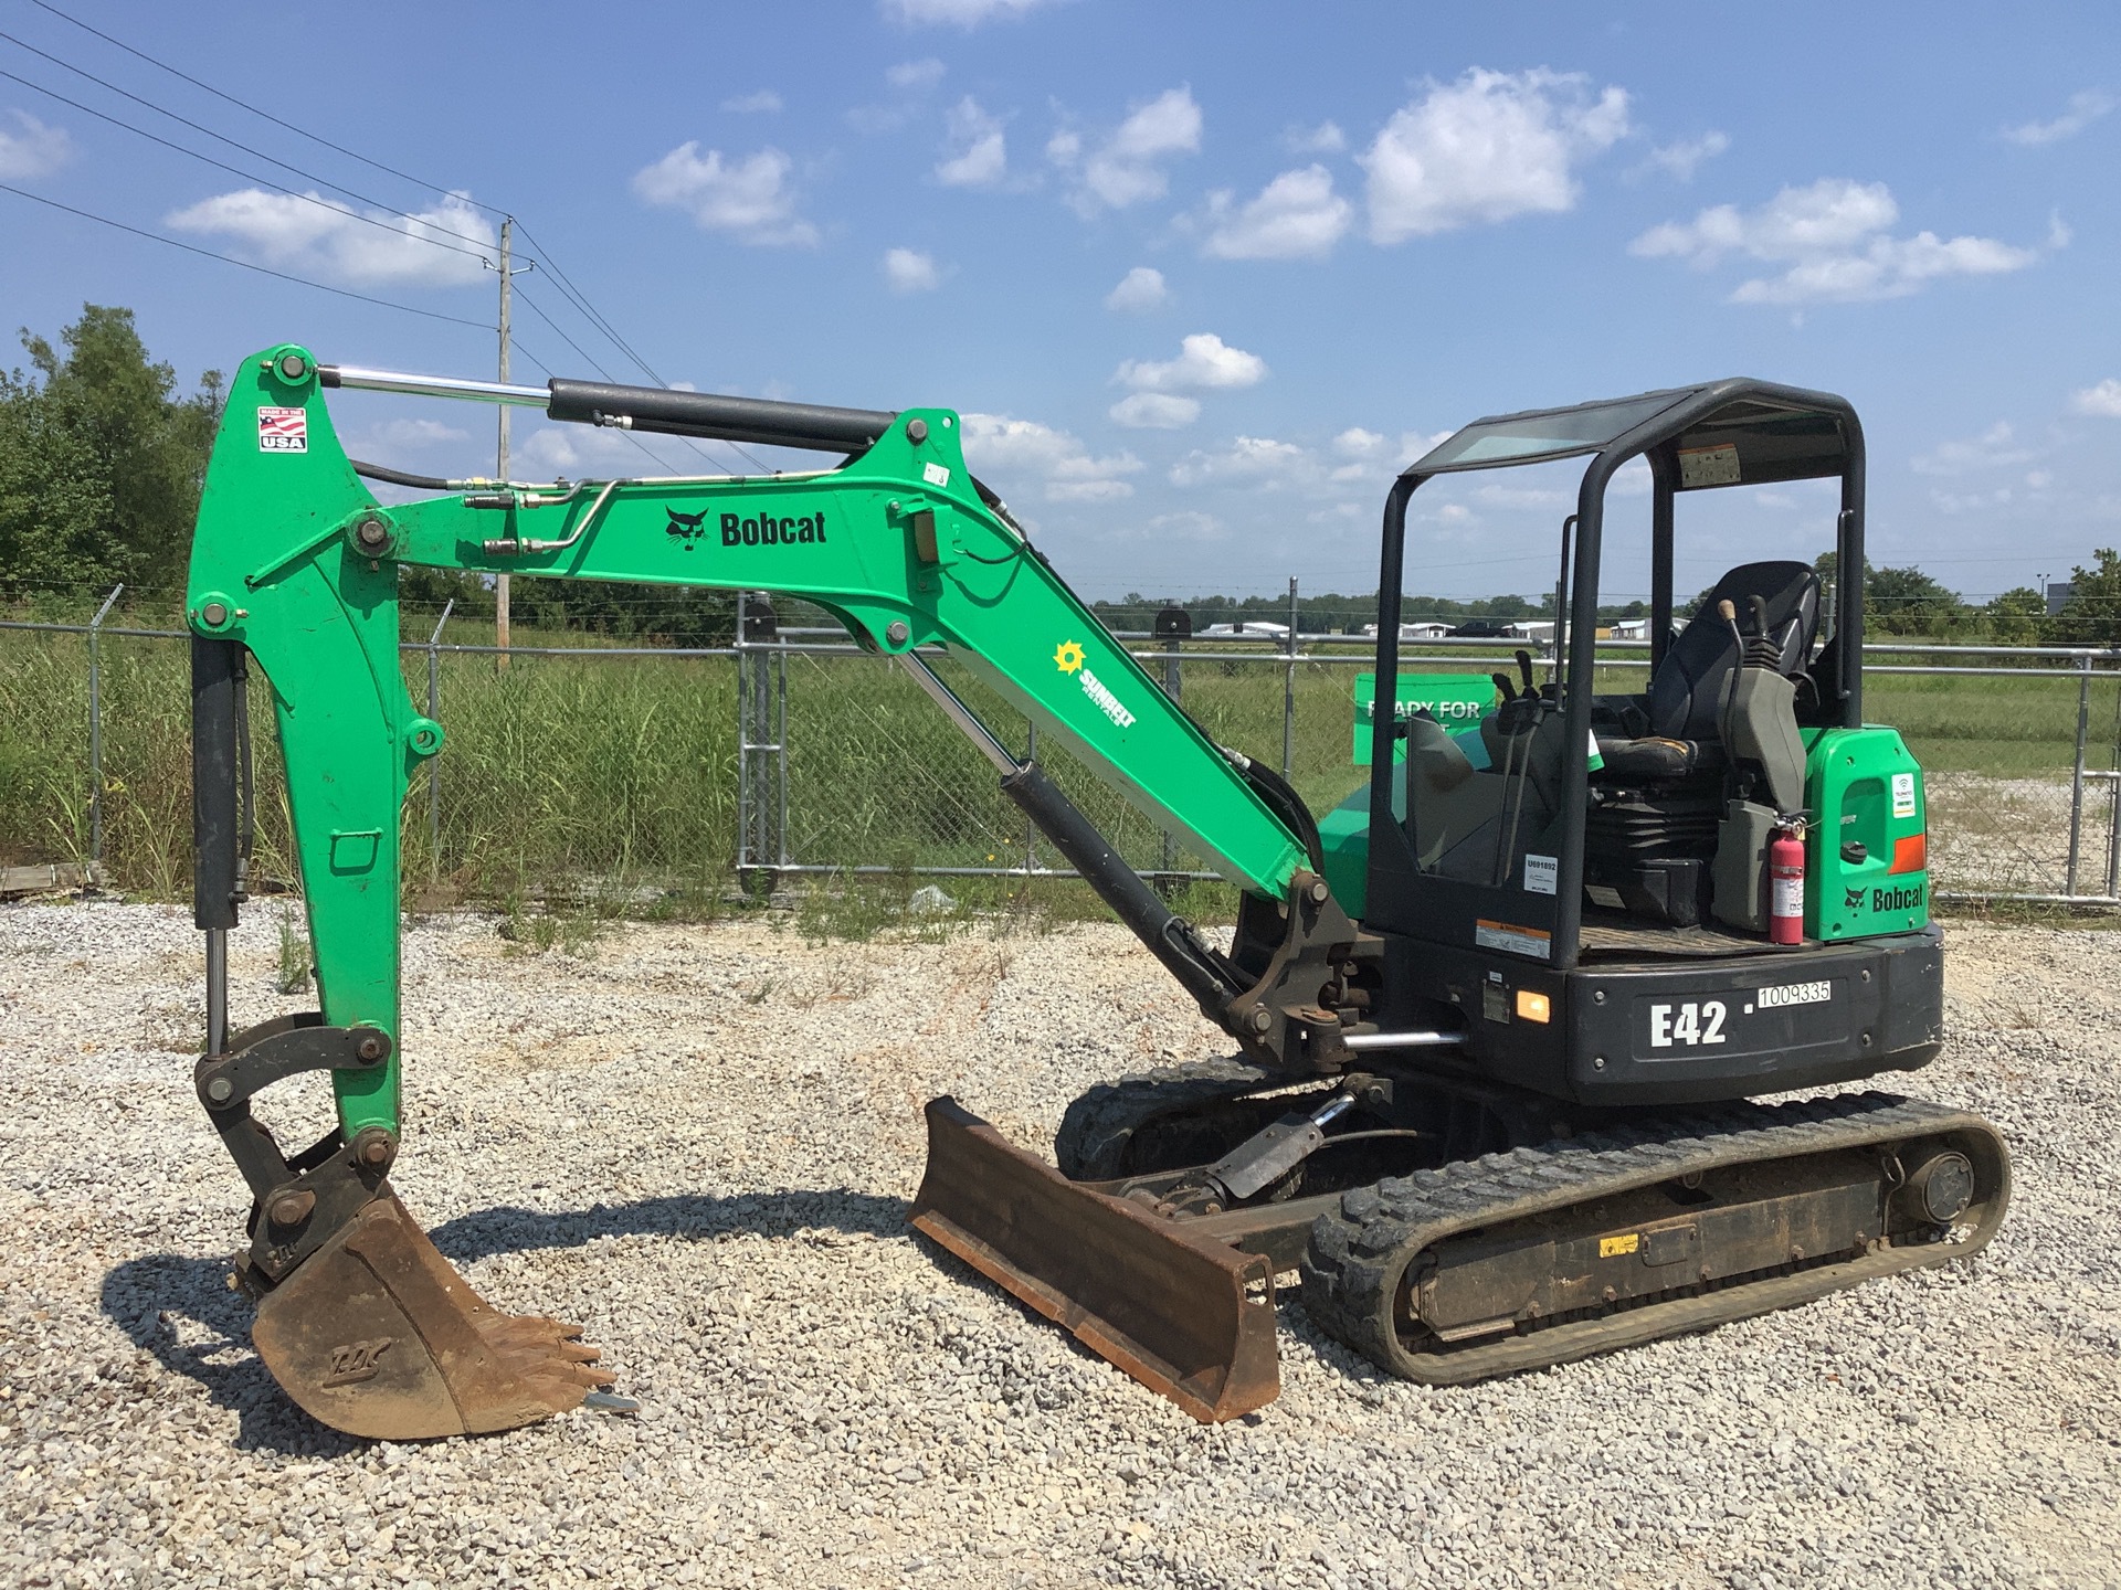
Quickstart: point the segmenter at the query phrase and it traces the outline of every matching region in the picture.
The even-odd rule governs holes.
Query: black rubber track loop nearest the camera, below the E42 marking
[[[1393,1327],[1393,1300],[1408,1261],[1453,1234],[1695,1170],[1941,1132],[1985,1138],[1994,1155],[1989,1177],[1983,1177],[1981,1164],[1987,1155],[1977,1155],[1977,1185],[1992,1181],[1994,1194],[1981,1208],[1981,1225],[1962,1242],[1890,1247],[1796,1272],[1733,1278],[1714,1289],[1680,1289],[1614,1312],[1559,1317],[1529,1331],[1440,1346],[1436,1353],[1410,1353]],[[1968,1257],[1996,1232],[2009,1196],[2009,1153],[1996,1128],[1979,1115],[1877,1092],[1773,1107],[1741,1102],[1459,1160],[1349,1189],[1340,1196],[1336,1215],[1313,1221],[1302,1297],[1307,1312],[1328,1336],[1391,1374],[1427,1384],[1466,1384],[1710,1329],[1811,1302],[1877,1274]]]

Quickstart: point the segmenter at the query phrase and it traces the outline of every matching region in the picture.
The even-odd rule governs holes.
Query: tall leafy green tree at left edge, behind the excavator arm
[[[0,570],[17,587],[180,585],[221,373],[176,399],[132,310],[85,303],[59,348],[23,329],[0,373]],[[62,352],[64,350],[64,352]]]

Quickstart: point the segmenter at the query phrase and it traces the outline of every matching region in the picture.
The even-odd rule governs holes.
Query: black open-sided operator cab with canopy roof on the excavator
[[[1862,721],[1862,589],[1839,581],[1826,611],[1809,564],[1748,562],[1676,625],[1673,505],[1688,492],[1839,479],[1837,566],[1862,568],[1856,413],[1826,392],[1726,379],[1455,432],[1400,477],[1385,513],[1379,702],[1402,697],[1413,494],[1438,475],[1572,456],[1591,462],[1561,526],[1550,676],[1536,678],[1519,653],[1476,725],[1377,714],[1364,922],[1561,971],[1601,954],[1765,950],[1767,848],[1805,816],[1805,731]],[[1652,483],[1646,676],[1597,655],[1606,496],[1635,458]]]

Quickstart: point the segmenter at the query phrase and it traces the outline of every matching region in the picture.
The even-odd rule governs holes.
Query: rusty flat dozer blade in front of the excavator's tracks
[[[1075,1185],[954,1098],[927,1126],[916,1230],[1203,1423],[1281,1393],[1264,1257]]]

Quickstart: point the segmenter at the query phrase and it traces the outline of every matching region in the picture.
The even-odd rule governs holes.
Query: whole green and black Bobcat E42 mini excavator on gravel
[[[562,422],[838,456],[814,473],[431,479],[352,462],[327,394],[526,405]],[[1402,702],[1413,494],[1587,458],[1550,678],[1521,657],[1476,721]],[[1646,460],[1650,670],[1597,651],[1614,471]],[[399,810],[443,750],[399,672],[399,568],[770,589],[899,666],[1234,1047],[1092,1088],[1048,1164],[927,1107],[912,1223],[1203,1420],[1279,1391],[1275,1300],[1396,1376],[1459,1384],[1699,1331],[1979,1251],[2009,1155],[1964,1111],[1816,1092],[1943,1041],[1922,770],[1862,719],[1862,587],[1809,564],[1673,606],[1682,494],[1839,481],[1862,568],[1862,428],[1839,396],[1724,379],[1478,420],[1391,485],[1370,774],[1315,818],[1217,746],[965,469],[946,409],[899,413],[554,379],[543,388],[244,360],[187,589],[195,1088],[252,1194],[238,1283],[310,1414],[365,1437],[503,1431],[611,1401],[579,1329],[505,1314],[392,1189]],[[424,496],[382,505],[365,481]],[[1417,570],[1419,572],[1419,570]],[[1822,619],[1824,638],[1822,638]],[[929,664],[961,659],[1241,888],[1196,931]],[[257,664],[286,763],[320,1011],[229,1030]],[[1633,683],[1644,683],[1633,678]],[[1387,706],[1389,704],[1389,706]],[[1801,899],[1799,899],[1801,890]],[[327,1071],[337,1121],[288,1158],[252,1117]],[[1807,1092],[1799,1102],[1750,1102]]]

